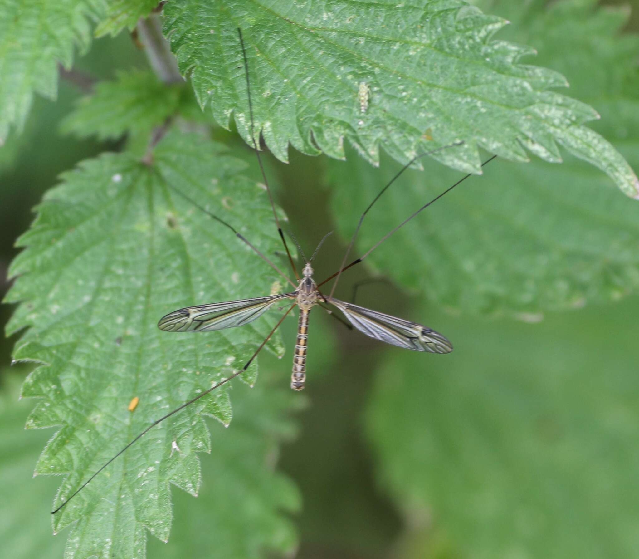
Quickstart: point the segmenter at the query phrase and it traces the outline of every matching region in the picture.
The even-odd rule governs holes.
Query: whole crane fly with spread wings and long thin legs
[[[186,194],[184,194],[183,192],[181,192],[180,190],[178,190],[177,188],[174,188],[172,185],[169,184],[167,186],[171,188],[171,190],[176,192],[176,194],[180,195],[181,197],[189,201],[191,204],[196,206],[196,208],[199,208],[199,210],[206,213],[213,220],[219,222],[223,226],[230,229],[235,234],[235,236],[238,239],[240,239],[240,241],[248,245],[250,249],[253,250],[253,252],[255,252],[261,259],[263,259],[263,261],[265,261],[269,266],[271,266],[271,268],[273,268],[275,272],[277,272],[284,279],[286,279],[286,281],[293,287],[293,291],[290,291],[288,293],[282,293],[280,295],[270,295],[270,296],[257,297],[257,298],[251,298],[251,299],[241,299],[237,301],[227,301],[222,303],[210,303],[206,305],[196,305],[194,307],[186,307],[184,309],[174,310],[173,312],[169,312],[169,314],[166,314],[160,319],[160,321],[158,322],[158,327],[160,328],[160,330],[163,330],[164,332],[209,332],[212,330],[223,330],[224,328],[234,328],[236,326],[243,326],[243,325],[249,324],[252,321],[261,317],[268,309],[271,309],[273,305],[276,305],[277,303],[285,302],[286,300],[292,301],[293,303],[288,306],[288,308],[286,309],[284,314],[282,314],[279,321],[277,321],[277,324],[273,326],[273,329],[268,333],[264,341],[261,342],[261,344],[259,344],[258,348],[253,352],[253,354],[250,356],[249,360],[247,360],[247,362],[242,367],[242,369],[239,369],[233,372],[233,374],[229,375],[227,378],[221,379],[218,383],[213,385],[211,388],[204,390],[200,394],[196,395],[194,398],[181,404],[181,406],[179,406],[178,408],[174,409],[173,411],[170,411],[163,417],[160,417],[159,419],[155,420],[155,422],[153,422],[151,425],[146,427],[144,431],[137,434],[137,436],[135,436],[135,438],[132,441],[130,441],[124,448],[122,448],[118,452],[118,454],[116,454],[111,459],[109,459],[109,461],[107,461],[103,466],[101,466],[98,471],[93,473],[93,475],[91,475],[91,477],[89,477],[89,479],[86,480],[86,482],[84,482],[84,484],[82,484],[82,486],[80,486],[79,489],[75,491],[75,493],[73,493],[63,503],[61,503],[61,505],[59,505],[59,507],[56,510],[54,510],[51,514],[56,514],[56,512],[62,509],[66,505],[66,503],[68,503],[70,500],[72,500],[73,497],[75,497],[78,493],[80,493],[80,491],[82,491],[82,489],[84,489],[84,487],[86,487],[91,482],[91,480],[93,480],[96,477],[96,475],[98,475],[102,470],[104,470],[104,468],[109,466],[109,464],[111,464],[112,461],[114,461],[126,450],[128,450],[128,448],[134,445],[134,443],[137,442],[140,438],[142,438],[142,436],[144,436],[151,429],[153,429],[155,425],[160,424],[165,419],[178,413],[179,411],[183,410],[184,408],[196,402],[197,400],[204,397],[205,395],[210,394],[210,392],[213,392],[213,390],[216,390],[217,388],[231,381],[231,379],[236,378],[243,372],[247,371],[247,369],[249,368],[249,365],[253,362],[256,356],[258,356],[258,353],[261,351],[261,349],[264,348],[264,346],[266,345],[266,342],[268,342],[271,339],[273,333],[275,333],[277,328],[279,328],[279,326],[282,324],[286,316],[288,316],[288,314],[291,312],[291,310],[293,310],[294,307],[299,307],[300,315],[298,319],[298,330],[297,330],[297,339],[295,344],[295,353],[293,355],[293,372],[291,374],[291,388],[293,388],[293,390],[302,390],[304,388],[305,379],[306,379],[306,355],[307,355],[309,315],[311,313],[312,307],[316,305],[319,305],[320,307],[324,307],[325,304],[333,305],[344,314],[346,319],[348,319],[348,323],[345,323],[347,326],[350,326],[351,328],[355,327],[357,328],[357,330],[366,334],[367,336],[370,336],[371,338],[380,340],[382,342],[386,342],[387,344],[398,346],[399,348],[413,349],[415,351],[426,351],[429,353],[450,353],[450,351],[452,351],[452,344],[450,343],[450,341],[446,337],[444,337],[442,334],[435,332],[435,330],[431,330],[431,328],[427,328],[426,326],[422,326],[418,323],[411,322],[403,318],[397,318],[396,316],[392,316],[390,314],[384,314],[383,312],[378,312],[376,310],[366,309],[365,307],[360,307],[353,303],[346,303],[344,301],[334,298],[333,295],[335,292],[335,287],[337,287],[337,282],[339,282],[339,278],[341,277],[341,274],[343,272],[345,272],[352,266],[355,266],[356,264],[359,264],[360,262],[364,261],[364,259],[366,259],[366,257],[369,256],[369,254],[371,254],[373,250],[379,247],[381,243],[387,240],[387,238],[389,238],[392,234],[396,233],[398,229],[406,225],[421,211],[424,211],[428,206],[435,203],[443,195],[450,192],[450,190],[452,190],[457,185],[465,181],[468,177],[472,176],[472,174],[466,174],[466,176],[458,180],[456,183],[454,183],[454,185],[444,190],[441,194],[433,198],[427,204],[424,204],[424,206],[419,208],[419,210],[413,212],[412,215],[406,218],[397,227],[392,229],[392,231],[390,231],[385,236],[383,236],[375,245],[373,245],[373,247],[371,247],[371,249],[367,250],[367,252],[365,252],[362,256],[356,258],[350,264],[346,264],[348,255],[350,254],[351,249],[353,248],[353,245],[355,244],[355,238],[357,238],[357,233],[360,227],[362,226],[362,222],[364,221],[366,214],[368,213],[369,210],[371,210],[371,208],[378,201],[378,199],[380,199],[381,195],[383,195],[384,192],[386,192],[386,190],[390,187],[390,185],[392,185],[392,183],[394,183],[397,180],[397,178],[399,178],[399,176],[404,171],[406,171],[406,169],[408,169],[408,167],[413,165],[420,158],[425,157],[427,155],[433,155],[437,153],[438,151],[442,151],[443,149],[459,146],[463,144],[463,142],[462,141],[455,142],[453,144],[449,144],[446,146],[442,146],[440,148],[433,149],[431,151],[427,151],[426,153],[420,153],[419,155],[413,157],[407,164],[405,164],[401,168],[399,172],[397,172],[397,174],[389,181],[389,183],[387,183],[387,185],[381,189],[379,194],[376,195],[376,197],[374,197],[373,201],[369,204],[369,206],[367,206],[366,210],[364,210],[364,212],[360,216],[357,227],[355,228],[355,233],[353,234],[350,240],[350,243],[348,244],[342,263],[339,266],[339,270],[337,270],[337,272],[330,275],[327,279],[319,283],[316,283],[312,277],[313,269],[312,269],[311,263],[314,257],[316,256],[319,248],[321,247],[323,241],[327,238],[328,235],[326,235],[320,241],[311,259],[306,260],[304,258],[305,260],[304,269],[302,270],[302,277],[300,277],[300,275],[298,274],[295,268],[295,263],[293,262],[293,257],[291,256],[291,252],[289,251],[288,243],[286,243],[286,238],[284,237],[282,227],[280,226],[279,218],[277,217],[277,211],[275,211],[275,204],[273,203],[273,196],[272,196],[270,187],[268,186],[268,180],[266,179],[264,166],[263,166],[261,157],[259,155],[259,147],[258,147],[258,143],[256,142],[255,132],[254,132],[255,126],[254,126],[253,106],[252,106],[251,93],[250,93],[249,63],[247,59],[246,49],[244,46],[242,29],[238,28],[238,36],[239,36],[240,46],[242,47],[242,57],[243,57],[244,70],[245,70],[244,73],[245,73],[246,92],[247,92],[247,101],[249,105],[249,118],[250,118],[250,139],[252,141],[252,147],[255,150],[256,157],[258,158],[259,169],[261,172],[261,176],[264,180],[266,192],[268,193],[268,199],[270,202],[271,209],[273,211],[273,220],[275,221],[277,232],[279,233],[279,236],[282,240],[282,245],[284,246],[284,250],[286,251],[286,256],[288,257],[288,262],[291,266],[291,270],[295,274],[296,282],[291,280],[288,277],[288,275],[286,275],[286,273],[282,272],[282,270],[280,270],[280,268],[276,264],[270,261],[270,259],[268,259],[268,257],[265,256],[265,254],[260,252],[259,249],[255,247],[255,245],[250,243],[250,241],[247,240],[247,238],[245,238],[241,233],[239,233],[235,229],[235,227],[231,226],[231,224],[227,223],[224,219],[220,218],[219,216],[206,210],[206,208],[203,208],[203,206],[198,204],[189,196],[187,196]],[[363,98],[364,93],[367,93],[367,91],[364,90],[360,84],[360,88],[359,88],[360,103],[364,103],[364,98]],[[366,98],[366,101],[367,101],[367,98]],[[363,104],[360,104],[360,110],[364,111],[364,109],[366,109],[366,107],[364,107]],[[486,165],[488,162],[492,161],[495,157],[497,156],[493,155],[493,157],[489,158],[484,163],[482,163],[482,167]],[[299,247],[299,245],[298,245],[298,249],[300,250],[302,257],[304,257],[304,253],[302,252],[302,249],[301,247]],[[328,295],[324,295],[322,291],[320,291],[319,287],[323,286],[324,284],[326,284],[332,279],[335,279],[335,282],[333,283],[330,289],[330,293]],[[332,316],[335,316],[335,315],[332,315]],[[137,402],[135,402],[134,404],[134,401],[132,401],[129,406],[130,410],[131,408],[135,409],[135,406],[137,405]]]

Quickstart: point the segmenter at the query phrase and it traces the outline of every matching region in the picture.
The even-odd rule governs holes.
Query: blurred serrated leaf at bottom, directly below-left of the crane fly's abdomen
[[[150,543],[149,555],[164,557],[220,557],[261,559],[291,555],[296,531],[282,512],[297,512],[300,495],[295,485],[273,471],[282,437],[295,433],[285,411],[300,406],[300,397],[282,382],[282,362],[271,368],[251,390],[240,385],[235,394],[233,423],[216,429],[211,456],[203,459],[203,489],[194,501],[175,493],[176,520],[168,545]],[[265,386],[266,384],[266,386]]]

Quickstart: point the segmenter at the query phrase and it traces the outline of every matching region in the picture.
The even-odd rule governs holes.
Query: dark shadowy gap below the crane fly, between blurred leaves
[[[380,308],[383,287],[380,291],[366,304]],[[384,310],[397,314],[396,301]],[[290,326],[284,339],[295,339]],[[304,496],[303,514],[296,519],[302,540],[296,557],[390,556],[387,550],[401,531],[401,517],[373,479],[374,462],[362,425],[374,371],[381,355],[393,349],[346,330],[323,312],[311,313],[308,344],[311,406],[300,416],[300,437],[283,449],[281,462]]]

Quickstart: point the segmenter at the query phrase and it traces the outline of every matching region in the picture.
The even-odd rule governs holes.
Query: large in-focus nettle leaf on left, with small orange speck
[[[249,247],[172,189],[273,254],[266,192],[220,151],[196,135],[170,134],[151,165],[128,153],[86,161],[45,195],[19,240],[27,248],[10,268],[18,277],[8,300],[22,303],[7,330],[29,327],[14,358],[42,364],[22,390],[40,398],[27,427],[61,426],[36,466],[68,473],[56,505],[153,420],[241,367],[277,319],[275,311],[211,335],[157,328],[187,305],[282,289]],[[277,335],[267,348],[283,352]],[[247,381],[255,375],[251,365]],[[141,557],[146,530],[168,539],[169,482],[197,493],[195,453],[211,450],[204,415],[229,423],[227,389],[155,427],[53,517],[56,532],[73,524],[69,557]],[[263,496],[272,514],[280,505]]]

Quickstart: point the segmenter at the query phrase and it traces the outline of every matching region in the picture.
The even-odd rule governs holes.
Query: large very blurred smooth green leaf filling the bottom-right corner
[[[413,528],[399,556],[639,553],[637,312],[635,298],[544,325],[422,313],[455,351],[395,352],[367,415]]]

